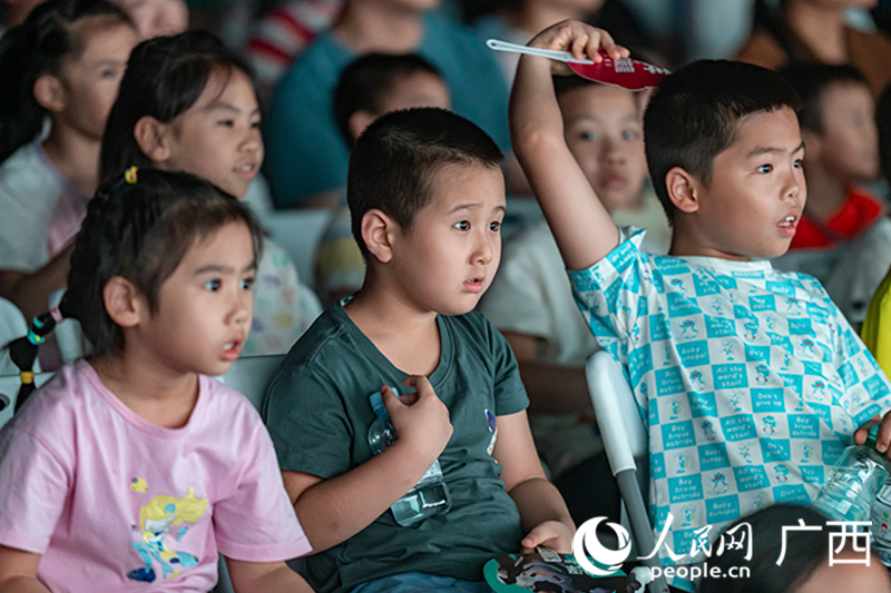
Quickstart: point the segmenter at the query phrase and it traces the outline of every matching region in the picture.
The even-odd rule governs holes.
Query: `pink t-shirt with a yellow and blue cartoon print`
[[[42,554],[61,591],[209,591],[217,552],[311,551],[251,403],[205,376],[182,428],[125,406],[86,362],[0,431],[0,544]]]

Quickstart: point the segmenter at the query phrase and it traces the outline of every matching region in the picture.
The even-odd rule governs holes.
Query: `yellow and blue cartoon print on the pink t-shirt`
[[[130,490],[140,492],[145,481],[135,477],[130,482]],[[182,498],[159,494],[153,496],[148,503],[139,508],[139,525],[135,527],[138,541],[131,542],[133,546],[143,557],[145,566],[127,573],[127,579],[153,583],[157,579],[154,564],[157,562],[161,570],[161,579],[167,580],[179,574],[177,569],[190,569],[198,564],[198,559],[187,552],[169,550],[165,537],[170,535],[175,542],[180,542],[188,531],[183,526],[176,535],[170,534],[170,527],[183,523],[197,523],[207,510],[207,498],[195,497],[192,486],[188,494]],[[168,543],[169,537],[168,537]],[[176,565],[176,567],[174,566]]]

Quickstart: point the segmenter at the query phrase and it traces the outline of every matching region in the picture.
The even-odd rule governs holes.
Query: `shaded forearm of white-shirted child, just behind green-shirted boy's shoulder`
[[[502,332],[513,350],[522,384],[529,395],[529,412],[541,414],[593,413],[582,367],[550,365],[536,360],[539,338]]]

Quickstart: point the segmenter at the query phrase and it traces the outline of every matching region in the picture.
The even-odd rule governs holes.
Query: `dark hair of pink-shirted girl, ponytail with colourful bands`
[[[9,344],[12,362],[29,372],[37,346],[59,317],[80,322],[95,358],[120,354],[124,333],[105,308],[106,284],[115,276],[127,278],[156,312],[161,285],[195,241],[233,221],[251,230],[256,261],[263,246],[258,223],[247,207],[209,181],[186,172],[134,168],[127,180],[104,185],[75,239],[68,289],[58,312],[36,317],[28,336]],[[26,387],[17,409],[33,386]]]

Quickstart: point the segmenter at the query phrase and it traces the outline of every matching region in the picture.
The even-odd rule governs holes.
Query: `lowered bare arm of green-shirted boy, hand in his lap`
[[[492,456],[501,464],[505,490],[520,512],[523,547],[546,545],[572,551],[576,526],[557,488],[545,477],[526,412],[498,416],[498,439]]]

